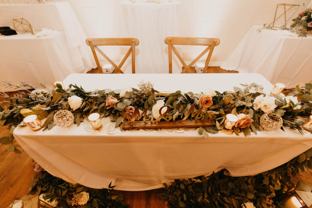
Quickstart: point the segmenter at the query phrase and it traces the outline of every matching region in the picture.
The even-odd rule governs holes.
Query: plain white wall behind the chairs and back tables
[[[69,0],[87,37],[119,37],[120,0]],[[162,0],[167,1],[167,0]],[[276,4],[308,5],[310,0],[180,0],[181,31],[185,37],[217,37],[211,64],[227,60],[252,25],[271,23]],[[183,46],[183,58],[194,59],[204,48]],[[118,59],[119,49],[104,50]],[[206,57],[204,57],[205,59]],[[202,60],[204,60],[202,59]]]

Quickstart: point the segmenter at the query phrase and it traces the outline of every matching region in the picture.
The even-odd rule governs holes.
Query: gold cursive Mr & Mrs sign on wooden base
[[[167,108],[164,113],[162,113],[162,109]],[[183,117],[182,113],[176,114],[174,116],[166,116],[170,111],[170,106],[164,105],[159,109],[159,117],[154,120],[152,114],[147,114],[147,108],[140,114],[139,108],[134,107],[134,114],[130,121],[125,121],[127,119],[127,115],[122,117],[121,122],[122,128],[124,130],[131,130],[131,129],[151,129],[151,128],[196,128],[196,127],[213,127],[216,123],[211,121],[212,120],[212,113],[208,113],[208,117],[206,112],[202,112],[203,107],[200,107],[197,112],[195,111],[195,106],[191,105],[190,109],[188,110],[187,114]],[[191,115],[191,119],[187,120],[188,116]],[[182,119],[177,120],[178,116],[181,116]],[[143,121],[135,121],[137,118],[140,119],[143,117]],[[151,119],[149,121],[146,120],[146,117]],[[192,120],[192,118],[194,118]],[[163,119],[164,121],[160,121]],[[207,121],[209,119],[209,121]]]

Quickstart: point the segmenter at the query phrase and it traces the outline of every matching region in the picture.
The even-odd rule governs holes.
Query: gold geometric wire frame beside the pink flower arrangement
[[[266,28],[270,28],[273,30],[277,30],[277,29],[281,29],[281,30],[286,30],[287,29],[287,22],[290,20],[290,18],[295,14],[295,12],[297,12],[297,10],[299,9],[300,5],[298,4],[277,4],[276,6],[276,11],[275,11],[275,16],[274,16],[274,20],[273,22],[271,22],[269,25],[266,26]],[[278,17],[277,13],[278,13],[278,8],[282,8],[282,14]],[[294,9],[294,12],[291,13],[291,10]],[[286,17],[286,14],[291,13],[291,15],[288,17]],[[284,17],[284,18],[283,18]],[[279,19],[284,19],[283,21],[283,25],[281,25],[280,27],[274,26],[274,24],[279,20]],[[276,28],[276,29],[275,29]]]

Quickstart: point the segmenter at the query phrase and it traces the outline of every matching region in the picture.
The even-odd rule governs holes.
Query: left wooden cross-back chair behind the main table
[[[124,62],[129,57],[130,53],[132,52],[132,74],[135,74],[135,46],[139,45],[139,40],[136,38],[87,38],[85,40],[88,46],[90,46],[91,51],[93,53],[97,68],[99,73],[103,73],[102,67],[100,65],[99,59],[96,55],[96,51],[98,51],[104,58],[110,62],[111,65],[115,67],[113,73],[121,73],[124,72],[120,69]],[[123,60],[117,66],[108,56],[103,53],[97,46],[131,46],[129,51],[124,56]]]

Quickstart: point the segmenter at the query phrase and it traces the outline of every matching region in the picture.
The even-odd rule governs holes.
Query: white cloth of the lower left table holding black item
[[[3,86],[2,81],[7,79],[13,84],[26,80],[42,88],[40,83],[51,86],[51,81],[75,73],[62,31],[37,38],[30,33],[0,36],[0,48],[0,92],[16,90]]]

